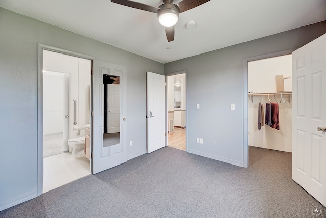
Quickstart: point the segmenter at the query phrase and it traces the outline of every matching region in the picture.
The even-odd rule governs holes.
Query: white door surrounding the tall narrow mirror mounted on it
[[[120,142],[104,147],[104,84],[103,74],[120,76]],[[93,75],[93,174],[126,162],[126,67],[94,61]]]

